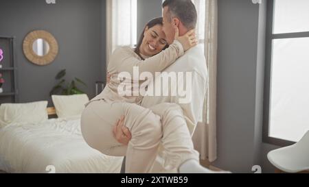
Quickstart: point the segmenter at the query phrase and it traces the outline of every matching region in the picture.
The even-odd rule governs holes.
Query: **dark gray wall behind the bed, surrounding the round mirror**
[[[1,0],[0,35],[16,36],[19,101],[48,100],[56,73],[67,69],[67,79],[79,77],[80,87],[95,95],[95,81],[105,77],[105,1],[65,0],[47,5],[44,0]],[[23,55],[23,39],[36,29],[54,35],[59,53],[47,66],[36,66]]]

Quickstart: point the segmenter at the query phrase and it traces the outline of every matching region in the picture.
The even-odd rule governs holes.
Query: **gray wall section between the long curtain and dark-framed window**
[[[214,166],[236,173],[262,166],[271,173],[262,143],[266,4],[218,1],[218,160]]]

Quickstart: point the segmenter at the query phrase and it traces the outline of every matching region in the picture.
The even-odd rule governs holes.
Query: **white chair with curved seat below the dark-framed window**
[[[280,171],[307,173],[309,171],[309,131],[294,145],[270,151],[267,158]]]

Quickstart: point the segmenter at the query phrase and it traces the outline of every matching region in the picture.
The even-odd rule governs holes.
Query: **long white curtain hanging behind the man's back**
[[[208,68],[207,95],[203,109],[203,123],[198,123],[193,137],[194,146],[201,153],[201,160],[214,162],[217,158],[216,143],[216,72],[217,72],[217,0],[192,0],[198,10],[197,31],[200,45],[204,45]],[[204,19],[205,18],[205,19]],[[203,28],[202,28],[203,27]],[[201,34],[205,34],[203,42]]]

